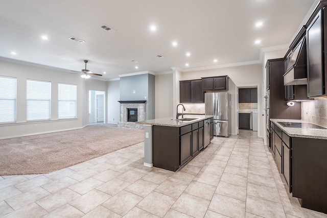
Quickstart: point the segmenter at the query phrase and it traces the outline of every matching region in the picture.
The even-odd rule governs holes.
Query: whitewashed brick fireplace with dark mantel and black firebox
[[[136,124],[136,121],[143,121],[145,120],[145,103],[146,101],[118,101],[121,103],[121,120],[118,122],[118,127],[120,128],[130,128],[130,129],[144,129],[142,124]],[[136,120],[136,114],[135,111],[137,111],[137,120]],[[129,113],[132,115],[133,122],[129,122]],[[133,116],[135,115],[135,116]]]

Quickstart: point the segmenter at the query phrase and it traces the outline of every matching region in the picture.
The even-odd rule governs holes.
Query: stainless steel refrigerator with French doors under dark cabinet
[[[205,115],[214,116],[214,135],[230,136],[230,94],[227,92],[205,93]]]

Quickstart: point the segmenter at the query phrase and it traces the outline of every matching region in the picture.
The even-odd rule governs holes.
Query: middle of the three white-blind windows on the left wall
[[[26,93],[26,120],[50,120],[51,82],[27,80]]]

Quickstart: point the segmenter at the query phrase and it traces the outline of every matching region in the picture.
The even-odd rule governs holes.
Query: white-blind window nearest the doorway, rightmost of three
[[[70,84],[58,84],[58,118],[76,118],[77,87]]]

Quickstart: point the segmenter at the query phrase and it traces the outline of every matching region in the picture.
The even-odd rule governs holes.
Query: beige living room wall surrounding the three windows
[[[88,124],[88,90],[106,87],[103,81],[86,82],[79,75],[69,74],[68,70],[41,66],[28,62],[0,60],[0,76],[17,78],[17,113],[15,124],[0,125],[0,138],[33,135],[78,129]],[[26,122],[26,80],[51,82],[51,120],[46,122]],[[77,85],[77,118],[58,120],[58,83]],[[104,89],[106,91],[106,88]]]

